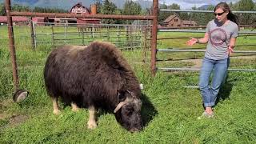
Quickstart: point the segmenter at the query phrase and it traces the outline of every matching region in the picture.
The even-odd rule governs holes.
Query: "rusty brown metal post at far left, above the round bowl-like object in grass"
[[[6,17],[8,23],[8,34],[9,34],[9,48],[10,48],[10,58],[12,63],[13,70],[13,80],[14,80],[14,89],[18,90],[18,69],[16,62],[16,51],[14,46],[14,30],[13,30],[13,21],[10,16],[10,0],[6,0]]]

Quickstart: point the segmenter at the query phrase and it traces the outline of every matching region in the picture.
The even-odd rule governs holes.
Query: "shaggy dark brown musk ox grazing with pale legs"
[[[97,127],[98,108],[114,111],[117,121],[130,131],[142,130],[141,90],[121,51],[109,42],[89,46],[60,46],[46,60],[46,91],[59,114],[58,97],[77,110],[89,110],[89,129]]]

